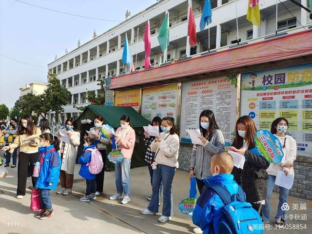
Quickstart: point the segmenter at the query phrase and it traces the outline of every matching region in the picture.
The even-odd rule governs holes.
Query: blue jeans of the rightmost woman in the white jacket
[[[275,184],[275,178],[276,176],[271,176],[271,175],[269,175],[269,178],[268,178],[268,195],[265,200],[265,205],[262,208],[262,217],[263,217],[264,222],[270,221],[270,199],[271,199],[271,195],[272,195],[274,184]],[[283,203],[287,202],[288,191],[289,190],[284,187],[279,187],[279,202],[277,206],[277,214],[274,218],[274,221],[277,221],[279,218],[282,217],[282,215],[286,214],[286,211],[283,211],[281,207]],[[286,221],[286,220],[282,220],[282,221]]]

